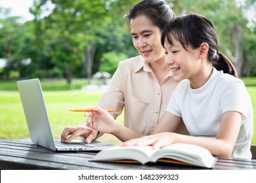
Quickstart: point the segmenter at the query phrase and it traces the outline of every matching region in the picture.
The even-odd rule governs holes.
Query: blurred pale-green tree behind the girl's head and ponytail
[[[209,18],[215,24],[219,36],[221,52],[230,58],[238,71],[242,73],[243,48],[245,32],[248,29],[248,19],[244,10],[252,5],[254,0],[247,0],[238,5],[235,0],[197,0],[172,1],[173,10],[178,15],[196,12]]]

